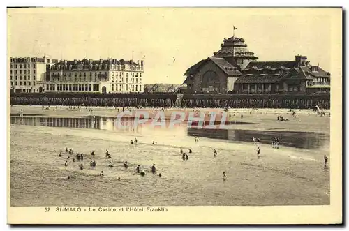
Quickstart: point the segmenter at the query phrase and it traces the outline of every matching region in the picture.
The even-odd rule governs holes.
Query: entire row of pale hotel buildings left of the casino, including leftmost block
[[[10,58],[14,92],[143,92],[144,61]]]

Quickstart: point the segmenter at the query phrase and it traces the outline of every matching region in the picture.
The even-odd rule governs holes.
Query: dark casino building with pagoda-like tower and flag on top
[[[311,65],[306,56],[290,61],[257,59],[243,38],[232,36],[212,57],[188,68],[184,84],[192,93],[329,93],[330,73]]]

